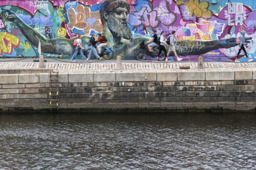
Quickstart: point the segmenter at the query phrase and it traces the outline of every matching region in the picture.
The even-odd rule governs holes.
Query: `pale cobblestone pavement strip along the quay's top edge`
[[[15,59],[13,59],[15,60]],[[30,59],[31,60],[31,59]],[[93,71],[100,70],[115,70],[116,60],[98,61],[91,60],[84,62],[77,60],[76,63],[70,60],[55,60],[46,59],[46,68],[58,69],[59,72],[84,72],[88,69]],[[51,61],[50,61],[51,60]],[[123,69],[143,69],[145,71],[160,71],[170,69],[180,69],[180,66],[190,66],[190,69],[197,69],[197,62],[166,62],[166,61],[122,61]],[[6,61],[0,60],[0,69],[36,69],[38,68],[38,62],[16,60],[12,61],[8,59]],[[204,62],[204,69],[256,69],[256,62]]]

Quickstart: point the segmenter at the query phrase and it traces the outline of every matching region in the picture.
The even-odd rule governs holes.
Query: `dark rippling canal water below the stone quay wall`
[[[252,170],[256,114],[0,114],[0,170]]]

